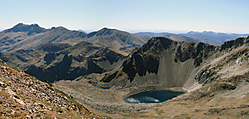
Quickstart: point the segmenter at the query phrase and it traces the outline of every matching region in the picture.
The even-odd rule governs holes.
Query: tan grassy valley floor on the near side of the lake
[[[249,118],[247,89],[222,92],[199,100],[182,100],[176,97],[163,103],[130,104],[123,101],[129,90],[100,89],[79,81],[59,81],[54,87],[71,95],[91,112],[112,118]],[[248,85],[248,84],[243,84]],[[242,86],[248,87],[248,86]],[[236,95],[243,92],[243,95]]]

